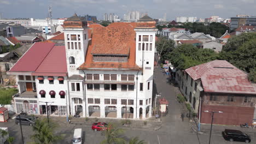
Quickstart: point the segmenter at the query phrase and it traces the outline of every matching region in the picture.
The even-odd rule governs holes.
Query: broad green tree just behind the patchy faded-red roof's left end
[[[218,53],[213,50],[199,49],[191,44],[179,45],[168,55],[168,59],[176,69],[187,69],[217,58]]]

